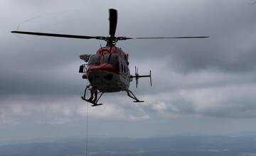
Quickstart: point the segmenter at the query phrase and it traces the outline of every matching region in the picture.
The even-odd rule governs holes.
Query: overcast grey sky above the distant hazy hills
[[[256,135],[256,5],[250,0],[1,0],[0,140],[171,135]],[[11,30],[108,35],[108,9],[118,10],[118,36],[209,35],[207,39],[127,40],[129,68],[152,70],[98,107],[80,99],[87,82],[81,54],[100,40],[17,35]]]

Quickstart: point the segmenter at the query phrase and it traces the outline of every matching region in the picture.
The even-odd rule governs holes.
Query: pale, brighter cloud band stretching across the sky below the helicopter
[[[97,108],[89,107],[89,113],[92,118],[111,118],[118,121],[182,118],[183,116],[255,118],[254,92],[255,84],[180,89],[144,95],[141,97],[146,101],[144,104],[133,104],[126,96],[105,96],[102,99],[105,101],[104,105]],[[87,114],[87,104],[84,104],[79,97],[47,100],[46,97],[27,99],[27,96],[23,96],[14,97],[17,101],[14,99],[1,101],[1,104],[4,104],[1,110],[1,116],[4,118],[2,123],[7,123],[6,117],[11,119],[11,124],[15,121],[12,119],[38,116],[36,123],[64,124],[80,120]],[[43,121],[42,116],[48,117]]]

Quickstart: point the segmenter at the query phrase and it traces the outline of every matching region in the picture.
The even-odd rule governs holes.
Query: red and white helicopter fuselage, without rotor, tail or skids
[[[90,56],[87,79],[101,92],[124,91],[132,81],[128,65],[128,55],[121,48],[102,47]]]

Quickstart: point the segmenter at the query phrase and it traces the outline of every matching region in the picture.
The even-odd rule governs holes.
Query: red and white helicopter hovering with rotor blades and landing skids
[[[105,40],[107,45],[97,50],[96,54],[80,55],[80,59],[84,60],[86,64],[80,65],[79,72],[82,73],[82,79],[87,79],[89,85],[85,87],[82,100],[92,104],[92,106],[100,106],[98,101],[102,94],[112,93],[118,91],[126,91],[127,96],[134,99],[134,102],[144,102],[137,98],[134,93],[129,90],[129,84],[135,79],[136,87],[138,87],[139,78],[149,77],[151,81],[151,70],[147,75],[139,75],[138,68],[135,67],[135,74],[129,72],[129,55],[122,51],[122,48],[116,46],[119,40],[132,39],[176,39],[176,38],[209,38],[209,36],[183,36],[183,37],[153,37],[153,38],[128,38],[116,37],[117,29],[117,10],[109,9],[110,14],[110,36],[88,36],[88,35],[66,35],[57,33],[38,33],[30,31],[11,31],[11,33],[21,33],[27,35],[43,35],[59,38],[79,38],[79,39],[96,39]],[[86,91],[91,91],[90,99],[86,99]],[[100,96],[97,96],[97,95]],[[94,95],[94,96],[93,96]]]

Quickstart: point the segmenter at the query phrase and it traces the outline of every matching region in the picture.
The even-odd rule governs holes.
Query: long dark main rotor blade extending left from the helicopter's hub
[[[57,34],[57,33],[36,33],[36,32],[28,32],[28,31],[11,31],[11,33],[22,33],[27,35],[45,35],[45,36],[58,37],[58,38],[100,39],[99,36],[88,36],[88,35],[65,35],[65,34]]]

